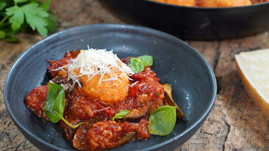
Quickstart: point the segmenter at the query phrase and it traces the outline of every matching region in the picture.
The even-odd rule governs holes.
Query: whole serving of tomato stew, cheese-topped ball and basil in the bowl
[[[52,79],[34,88],[26,106],[59,123],[76,150],[107,150],[151,134],[168,135],[184,114],[171,86],[160,84],[148,55],[119,59],[112,51],[66,52],[47,60]]]

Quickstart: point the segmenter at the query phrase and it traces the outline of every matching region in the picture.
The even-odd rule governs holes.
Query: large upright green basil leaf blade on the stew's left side
[[[61,85],[49,83],[48,95],[44,112],[52,123],[57,123],[63,117],[65,107],[65,92]]]

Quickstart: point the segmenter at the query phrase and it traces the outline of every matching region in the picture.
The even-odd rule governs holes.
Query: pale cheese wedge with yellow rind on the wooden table
[[[269,49],[240,52],[235,62],[250,98],[269,118]]]

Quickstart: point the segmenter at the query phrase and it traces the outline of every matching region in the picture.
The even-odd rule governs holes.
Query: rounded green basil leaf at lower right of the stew
[[[148,123],[151,134],[170,134],[176,123],[176,107],[169,105],[159,107],[150,115]]]

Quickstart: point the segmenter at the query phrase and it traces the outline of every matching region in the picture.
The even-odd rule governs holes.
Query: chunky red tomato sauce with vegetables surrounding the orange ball
[[[68,67],[55,70],[72,62],[79,51],[67,52],[60,60],[47,60],[53,79],[57,84],[72,85],[68,80]],[[123,58],[123,63],[129,64],[130,57]],[[76,85],[72,91],[65,91],[65,109],[63,117],[70,124],[84,122],[76,129],[70,128],[65,122],[58,123],[63,128],[65,139],[73,143],[77,150],[104,150],[121,146],[133,139],[149,139],[148,117],[155,109],[162,105],[164,88],[160,79],[150,67],[142,72],[130,76],[131,87],[123,102],[105,107],[98,100],[80,94]],[[47,98],[48,86],[42,85],[34,88],[26,98],[26,106],[37,116],[48,119],[44,113],[44,102]],[[130,110],[124,118],[110,120],[121,110]]]

